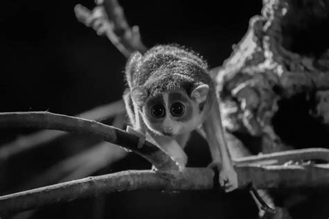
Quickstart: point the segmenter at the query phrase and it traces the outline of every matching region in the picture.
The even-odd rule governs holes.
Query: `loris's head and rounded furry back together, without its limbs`
[[[155,46],[130,58],[130,94],[151,131],[174,136],[201,123],[214,87],[207,68],[198,55],[176,46]]]

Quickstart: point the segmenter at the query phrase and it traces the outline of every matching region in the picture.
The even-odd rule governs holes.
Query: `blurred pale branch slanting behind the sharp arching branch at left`
[[[102,105],[100,107],[90,109],[89,111],[83,112],[76,116],[83,119],[101,121],[102,119],[108,119],[112,116],[116,116],[117,114],[124,112],[124,102],[122,100],[118,100],[108,105]],[[48,143],[49,141],[63,137],[65,134],[67,134],[67,132],[61,132],[57,130],[42,130],[27,136],[18,137],[15,141],[3,144],[0,147],[0,161],[18,155],[19,153],[25,152],[27,150],[36,148],[37,146],[41,146],[42,144]]]

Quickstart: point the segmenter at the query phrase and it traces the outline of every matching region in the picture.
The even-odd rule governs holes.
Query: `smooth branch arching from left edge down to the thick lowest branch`
[[[0,128],[45,128],[90,134],[132,150],[150,161],[158,170],[178,170],[171,157],[149,141],[145,141],[142,148],[137,148],[138,137],[96,121],[51,112],[5,112],[0,113]]]

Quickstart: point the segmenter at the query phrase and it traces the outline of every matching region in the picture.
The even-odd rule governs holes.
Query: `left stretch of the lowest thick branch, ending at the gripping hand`
[[[87,177],[2,196],[0,213],[24,211],[48,204],[69,202],[78,198],[118,191],[211,189],[213,175],[211,169],[192,168],[177,176],[155,173],[153,170],[128,170],[110,175]]]

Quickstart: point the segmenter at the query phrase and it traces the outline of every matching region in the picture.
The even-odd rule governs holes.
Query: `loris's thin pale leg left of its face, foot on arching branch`
[[[126,91],[123,98],[124,98],[124,104],[126,106],[126,112],[130,120],[130,124],[133,125],[133,126],[127,125],[126,131],[130,134],[134,134],[137,137],[139,137],[137,148],[142,148],[146,140],[146,137],[145,137],[145,128],[142,124],[142,118],[140,116],[140,112],[138,111],[137,105],[133,103],[129,91]]]

